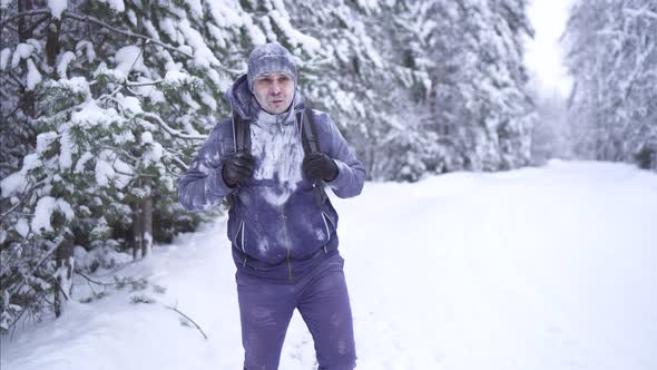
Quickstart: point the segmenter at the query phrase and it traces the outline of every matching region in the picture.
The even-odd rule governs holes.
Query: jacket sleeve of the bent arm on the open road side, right
[[[337,165],[337,177],[326,184],[341,198],[356,196],[363,191],[365,167],[356,159],[353,148],[349,146],[331,116],[326,117],[331,136],[331,149],[326,154]]]

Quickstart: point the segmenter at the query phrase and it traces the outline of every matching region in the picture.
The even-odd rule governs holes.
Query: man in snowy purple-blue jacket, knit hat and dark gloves
[[[231,199],[244,369],[278,368],[297,309],[320,369],[351,370],[356,354],[337,213],[322,188],[356,196],[365,171],[331,117],[305,109],[297,87],[290,51],[277,43],[256,47],[247,74],[226,91],[233,118],[212,130],[178,194],[189,211]],[[241,136],[245,123],[247,139]],[[304,149],[308,127],[321,152]]]

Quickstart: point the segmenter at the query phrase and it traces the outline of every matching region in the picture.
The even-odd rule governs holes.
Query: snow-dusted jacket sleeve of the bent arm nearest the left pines
[[[223,158],[219,153],[219,130],[215,128],[192,166],[178,179],[178,201],[187,211],[205,211],[233,192],[222,176]]]

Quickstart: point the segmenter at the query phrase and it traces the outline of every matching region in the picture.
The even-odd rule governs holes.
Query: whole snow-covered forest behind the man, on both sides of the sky
[[[373,182],[555,157],[657,171],[657,3],[573,0],[568,97],[529,85],[529,4],[0,0],[0,332],[220,217],[185,212],[177,179],[265,42]]]

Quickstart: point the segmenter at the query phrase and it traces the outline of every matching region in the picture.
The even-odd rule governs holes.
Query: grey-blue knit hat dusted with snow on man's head
[[[292,55],[281,43],[271,42],[257,46],[248,56],[246,80],[253,91],[253,81],[266,72],[287,72],[296,86],[296,65]]]

